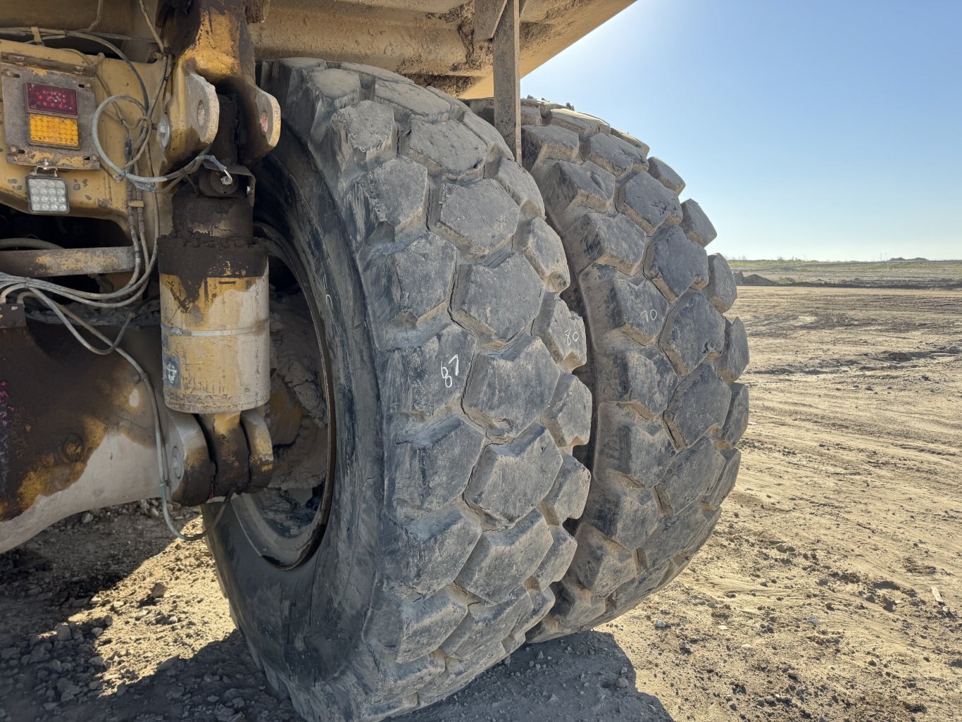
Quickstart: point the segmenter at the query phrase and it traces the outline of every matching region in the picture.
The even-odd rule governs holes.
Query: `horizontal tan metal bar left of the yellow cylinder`
[[[134,248],[63,248],[0,250],[0,273],[30,278],[119,273],[134,270]]]

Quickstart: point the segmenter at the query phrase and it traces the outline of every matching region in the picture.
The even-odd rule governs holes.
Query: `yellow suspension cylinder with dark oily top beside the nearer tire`
[[[158,242],[164,400],[194,414],[240,413],[270,397],[267,252],[251,244],[246,197],[178,193]]]

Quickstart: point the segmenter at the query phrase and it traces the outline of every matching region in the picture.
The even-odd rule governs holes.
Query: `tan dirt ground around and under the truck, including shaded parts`
[[[752,421],[691,567],[404,722],[959,718],[962,292],[740,295]],[[296,719],[203,544],[141,503],[0,555],[0,720],[182,719]]]

